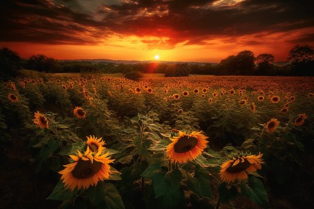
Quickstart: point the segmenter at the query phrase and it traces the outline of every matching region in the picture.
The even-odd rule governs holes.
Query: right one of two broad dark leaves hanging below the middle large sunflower
[[[207,196],[211,198],[211,185],[209,183],[209,173],[207,169],[204,169],[199,164],[195,167],[195,175],[188,176],[188,188],[199,196]]]

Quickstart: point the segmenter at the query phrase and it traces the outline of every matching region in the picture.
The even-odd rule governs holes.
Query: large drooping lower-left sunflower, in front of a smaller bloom
[[[96,186],[98,181],[109,178],[111,173],[109,163],[114,162],[107,157],[109,152],[100,155],[101,150],[98,150],[96,155],[93,155],[93,152],[90,152],[89,147],[87,147],[84,156],[79,150],[77,153],[79,157],[69,155],[75,162],[64,165],[66,169],[58,172],[62,174],[62,183],[65,183],[66,189],[70,188],[71,191],[75,187],[88,189],[89,186]]]

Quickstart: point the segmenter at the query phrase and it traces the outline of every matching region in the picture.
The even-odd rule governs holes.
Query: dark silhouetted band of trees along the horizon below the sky
[[[292,75],[314,76],[314,50],[309,45],[294,46],[287,58],[287,64],[274,65],[274,55],[263,53],[255,57],[253,52],[244,50],[236,56],[223,59],[218,65],[184,63],[185,74],[190,75]],[[99,72],[122,73],[126,77],[139,77],[140,72],[165,73],[165,77],[177,76],[182,64],[167,63],[110,63],[91,61],[57,61],[43,54],[21,59],[17,52],[3,47],[0,49],[0,77],[14,76],[17,70],[28,69],[39,72]],[[181,74],[182,75],[182,74]]]

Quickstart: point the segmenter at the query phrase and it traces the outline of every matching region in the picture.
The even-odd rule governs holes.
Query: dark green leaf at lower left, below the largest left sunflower
[[[66,199],[72,199],[77,192],[77,188],[75,188],[73,192],[71,192],[71,189],[66,189],[62,180],[59,180],[59,183],[57,183],[56,187],[54,187],[52,193],[47,197],[47,199],[64,201]]]

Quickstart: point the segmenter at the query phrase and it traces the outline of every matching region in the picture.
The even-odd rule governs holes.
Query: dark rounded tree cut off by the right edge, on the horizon
[[[290,62],[290,75],[314,75],[314,50],[309,45],[294,46],[287,58]]]

